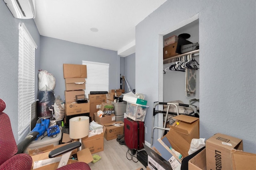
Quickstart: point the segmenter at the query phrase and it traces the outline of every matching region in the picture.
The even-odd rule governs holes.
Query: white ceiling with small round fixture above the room
[[[114,50],[126,57],[135,52],[135,26],[165,1],[35,0],[34,21],[40,35]]]

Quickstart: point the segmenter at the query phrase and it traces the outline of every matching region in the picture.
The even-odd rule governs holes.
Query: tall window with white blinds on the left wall
[[[24,23],[19,23],[18,136],[30,125],[31,104],[35,101],[35,48]]]

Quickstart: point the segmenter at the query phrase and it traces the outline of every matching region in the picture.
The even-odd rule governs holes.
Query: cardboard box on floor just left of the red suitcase
[[[118,135],[124,133],[124,122],[122,121],[116,121],[114,123],[105,123],[104,126],[106,127],[104,137],[107,141],[116,139]]]

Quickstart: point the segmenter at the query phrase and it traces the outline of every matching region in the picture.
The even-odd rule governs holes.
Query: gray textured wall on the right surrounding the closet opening
[[[244,151],[256,153],[255,6],[255,0],[168,0],[136,26],[136,63],[141,63],[136,64],[136,91],[148,96],[150,106],[146,142],[153,102],[163,100],[160,34],[198,14],[200,137],[224,133],[243,139]]]

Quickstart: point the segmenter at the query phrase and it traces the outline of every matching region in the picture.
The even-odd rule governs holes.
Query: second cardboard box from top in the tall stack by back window
[[[66,90],[83,90],[85,89],[85,78],[65,78]]]

